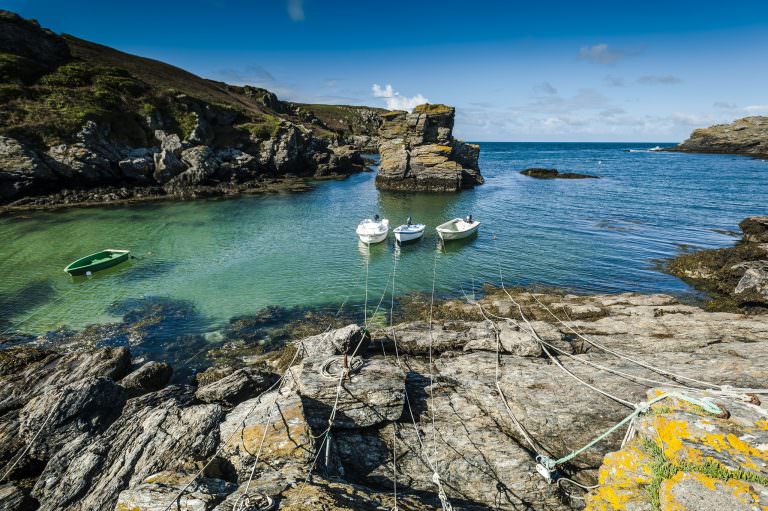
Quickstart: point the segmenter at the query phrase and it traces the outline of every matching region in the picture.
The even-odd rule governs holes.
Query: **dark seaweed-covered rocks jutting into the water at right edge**
[[[744,219],[743,239],[734,247],[681,254],[670,273],[709,291],[711,306],[724,310],[768,309],[768,217]]]

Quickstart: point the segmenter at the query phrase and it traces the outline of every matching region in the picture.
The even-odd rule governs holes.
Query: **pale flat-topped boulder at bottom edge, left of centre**
[[[194,477],[184,472],[160,472],[147,477],[144,482],[120,492],[115,511],[210,511],[237,489],[237,485],[208,477],[198,477],[175,501],[179,492]]]

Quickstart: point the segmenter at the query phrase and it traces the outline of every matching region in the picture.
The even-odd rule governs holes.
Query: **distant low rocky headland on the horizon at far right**
[[[768,117],[753,116],[695,130],[671,151],[768,157]]]

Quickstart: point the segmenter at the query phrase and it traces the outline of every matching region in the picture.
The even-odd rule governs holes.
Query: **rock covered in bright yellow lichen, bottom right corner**
[[[663,389],[648,392],[649,399]],[[691,391],[693,392],[693,391]],[[706,395],[697,397],[710,397]],[[760,405],[737,399],[715,417],[681,399],[651,407],[633,421],[637,436],[605,456],[592,511],[766,511],[768,436]]]

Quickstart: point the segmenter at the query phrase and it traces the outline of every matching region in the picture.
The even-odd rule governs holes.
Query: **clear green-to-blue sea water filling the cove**
[[[685,292],[656,269],[680,245],[716,247],[751,214],[765,214],[768,162],[721,155],[625,152],[656,144],[483,143],[486,184],[460,194],[379,192],[374,174],[319,183],[307,193],[230,200],[70,209],[0,217],[0,331],[43,332],[119,319],[118,304],[145,296],[189,301],[214,330],[268,306],[375,307],[398,259],[397,293],[470,292],[498,281],[578,292]],[[537,180],[531,166],[597,174]],[[477,238],[437,250],[434,226],[472,213]],[[401,249],[355,237],[374,213],[392,226],[429,226]],[[495,235],[496,239],[493,239]],[[62,269],[102,248],[138,257],[90,279]],[[387,295],[387,300],[389,299]]]

